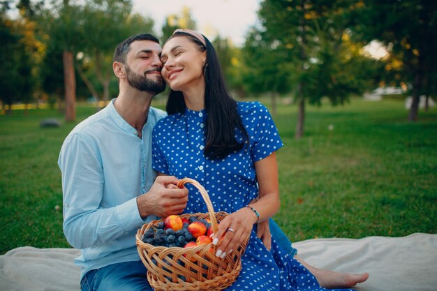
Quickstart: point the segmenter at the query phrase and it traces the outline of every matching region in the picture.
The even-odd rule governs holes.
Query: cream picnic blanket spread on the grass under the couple
[[[309,239],[294,244],[314,267],[369,273],[360,291],[436,291],[437,234],[364,239]],[[24,246],[0,256],[0,290],[79,291],[73,248]]]

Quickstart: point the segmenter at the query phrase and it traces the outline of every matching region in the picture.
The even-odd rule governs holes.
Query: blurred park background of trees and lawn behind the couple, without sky
[[[232,95],[260,100],[279,128],[274,218],[284,232],[436,233],[437,3],[257,2],[243,41],[201,32]],[[69,247],[57,157],[74,126],[117,96],[114,47],[135,33],[164,41],[199,29],[196,17],[186,6],[157,27],[131,1],[0,5],[0,253]]]

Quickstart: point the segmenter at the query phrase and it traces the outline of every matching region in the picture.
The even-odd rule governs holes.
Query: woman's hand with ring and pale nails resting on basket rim
[[[244,207],[226,216],[218,225],[217,233],[212,236],[212,243],[218,245],[216,256],[225,258],[251,234],[257,216],[251,209]]]

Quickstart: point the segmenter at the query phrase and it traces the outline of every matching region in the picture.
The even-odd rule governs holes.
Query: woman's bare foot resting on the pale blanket
[[[295,256],[295,259],[298,260],[306,269],[308,269],[311,274],[313,274],[320,286],[327,289],[334,288],[350,288],[352,286],[357,285],[357,283],[362,283],[369,278],[368,273],[364,274],[349,274],[349,273],[341,273],[337,271],[330,271],[326,269],[318,269],[315,268],[306,262],[304,262],[299,257]]]

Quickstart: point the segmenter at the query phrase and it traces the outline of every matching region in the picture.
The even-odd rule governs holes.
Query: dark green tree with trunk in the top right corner
[[[437,2],[367,0],[354,19],[361,38],[379,40],[390,51],[389,61],[399,61],[394,69],[413,86],[408,120],[417,121],[420,95],[437,91]]]

